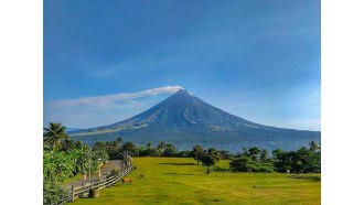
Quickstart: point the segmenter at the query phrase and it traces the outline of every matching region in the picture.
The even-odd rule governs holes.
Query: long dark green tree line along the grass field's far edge
[[[204,149],[199,144],[194,145],[192,150],[178,151],[175,145],[165,142],[160,142],[156,147],[150,142],[146,147],[137,147],[132,142],[127,142],[121,150],[139,157],[193,158],[197,164],[202,162],[206,165],[206,173],[210,173],[210,166],[215,165],[222,159],[231,160],[229,170],[234,172],[320,173],[320,145],[315,141],[311,141],[308,145],[308,148],[302,147],[297,151],[276,149],[270,153],[258,147],[242,148],[240,152],[234,154],[227,150]]]

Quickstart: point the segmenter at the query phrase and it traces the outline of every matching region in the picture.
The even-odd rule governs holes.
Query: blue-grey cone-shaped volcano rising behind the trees
[[[282,129],[259,125],[227,114],[185,89],[132,118],[109,126],[68,131],[88,143],[121,136],[138,144],[165,141],[179,149],[195,143],[237,151],[242,147],[298,149],[311,140],[320,141],[320,131]]]

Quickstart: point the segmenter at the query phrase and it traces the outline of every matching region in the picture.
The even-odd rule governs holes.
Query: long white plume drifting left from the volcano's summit
[[[51,104],[56,107],[66,107],[66,106],[94,106],[94,107],[106,107],[116,102],[133,102],[133,99],[141,98],[144,96],[152,96],[158,94],[172,94],[180,89],[183,89],[181,86],[164,86],[152,89],[146,89],[137,93],[119,93],[114,95],[105,96],[93,96],[93,97],[82,97],[76,99],[62,99],[53,100]]]

